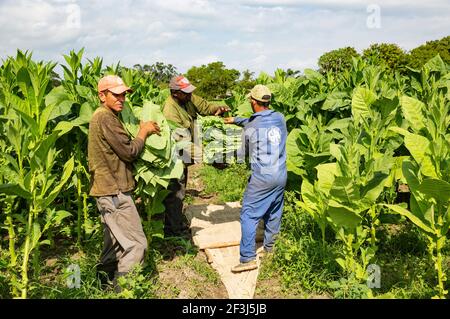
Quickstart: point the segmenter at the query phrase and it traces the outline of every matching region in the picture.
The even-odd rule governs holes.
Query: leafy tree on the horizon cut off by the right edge
[[[450,36],[427,43],[411,50],[409,66],[420,69],[428,60],[439,54],[442,60],[450,64]]]

